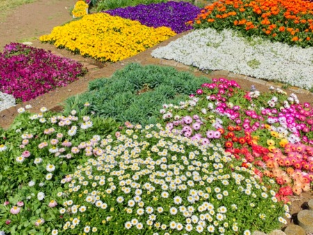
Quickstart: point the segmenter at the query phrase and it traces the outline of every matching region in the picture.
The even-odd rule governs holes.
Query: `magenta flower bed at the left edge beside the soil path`
[[[0,91],[26,102],[86,74],[83,65],[43,49],[11,43],[0,53]]]

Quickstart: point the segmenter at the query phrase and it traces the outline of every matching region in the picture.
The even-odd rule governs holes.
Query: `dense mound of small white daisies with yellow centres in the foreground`
[[[94,143],[95,158],[79,165],[58,193],[63,232],[250,234],[287,222],[266,220],[290,216],[288,206],[251,164],[236,165],[219,144],[152,128],[136,125]]]

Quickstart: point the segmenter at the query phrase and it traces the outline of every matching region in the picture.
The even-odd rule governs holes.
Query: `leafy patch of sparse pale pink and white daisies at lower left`
[[[100,136],[120,126],[85,117],[86,108],[68,116],[47,108],[38,114],[19,108],[13,126],[0,129],[0,234],[57,234],[52,230],[62,227],[58,193],[90,156],[81,146],[95,147]]]

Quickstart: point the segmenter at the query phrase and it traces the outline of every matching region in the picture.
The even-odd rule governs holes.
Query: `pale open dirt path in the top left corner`
[[[72,19],[77,0],[38,0],[20,6],[0,23],[0,51],[10,42],[31,41]]]

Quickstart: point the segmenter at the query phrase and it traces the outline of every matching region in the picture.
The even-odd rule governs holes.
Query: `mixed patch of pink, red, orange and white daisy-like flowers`
[[[270,168],[266,175],[278,184],[294,182],[294,193],[309,191],[313,180],[310,104],[300,104],[296,95],[287,97],[279,88],[261,94],[255,88],[244,92],[235,81],[213,81],[202,84],[186,102],[163,104],[160,113],[166,128],[202,145],[221,143],[244,163]]]

